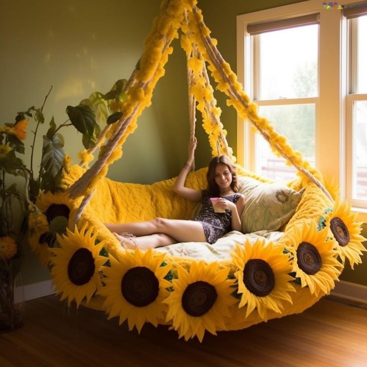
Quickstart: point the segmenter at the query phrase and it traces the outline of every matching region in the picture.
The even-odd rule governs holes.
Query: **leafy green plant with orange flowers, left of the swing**
[[[19,248],[28,231],[29,204],[35,203],[40,190],[44,192],[60,190],[65,153],[64,138],[59,130],[73,125],[82,134],[83,146],[86,149],[94,147],[101,133],[101,127],[115,123],[121,118],[122,104],[127,99],[124,92],[126,83],[125,79],[119,79],[109,92],[94,92],[79,105],[67,106],[66,113],[69,120],[59,126],[52,116],[47,133],[43,135],[38,172],[35,172],[33,164],[34,147],[39,145],[36,142],[38,129],[46,121],[43,108],[52,87],[41,107],[31,106],[25,111],[18,112],[15,122],[5,123],[0,127],[0,237],[12,236]],[[22,159],[19,155],[24,156],[25,153],[23,140],[29,128],[28,124],[33,124],[31,154]],[[25,189],[19,189],[16,184],[7,186],[5,179],[7,175],[23,177]],[[19,208],[21,224],[17,228],[14,221],[15,217],[19,219],[18,215],[15,215],[19,213]],[[55,235],[65,233],[66,226],[66,218],[62,216],[54,218],[50,223],[50,232],[42,234],[42,241],[47,242],[49,246],[57,245]],[[19,253],[20,251],[17,252]]]

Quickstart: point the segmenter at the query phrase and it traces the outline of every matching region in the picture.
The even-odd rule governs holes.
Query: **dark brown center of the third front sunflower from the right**
[[[273,269],[265,260],[248,260],[243,269],[243,283],[255,296],[267,296],[275,286]]]

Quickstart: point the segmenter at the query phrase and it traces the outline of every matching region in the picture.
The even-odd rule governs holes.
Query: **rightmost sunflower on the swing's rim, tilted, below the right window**
[[[356,221],[357,216],[358,213],[351,212],[351,204],[347,201],[342,204],[339,198],[335,201],[333,210],[325,216],[329,235],[337,242],[338,255],[343,265],[348,258],[352,269],[354,264],[362,262],[362,251],[366,251],[362,244],[366,238],[360,234],[362,222]]]

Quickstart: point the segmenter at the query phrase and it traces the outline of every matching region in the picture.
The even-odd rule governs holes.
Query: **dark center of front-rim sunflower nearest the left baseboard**
[[[92,252],[87,248],[79,248],[69,260],[67,274],[72,283],[83,285],[90,281],[95,268]]]

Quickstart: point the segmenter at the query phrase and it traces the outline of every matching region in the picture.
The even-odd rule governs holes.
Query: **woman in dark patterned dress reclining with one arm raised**
[[[194,138],[189,145],[188,159],[173,190],[188,200],[201,201],[203,206],[200,213],[192,220],[156,218],[136,223],[105,224],[125,248],[148,249],[178,242],[212,244],[228,229],[241,231],[245,198],[237,192],[236,170],[228,157],[219,156],[211,160],[206,175],[206,190],[185,187],[196,145]],[[215,202],[216,212],[210,200],[212,197],[218,198]]]

